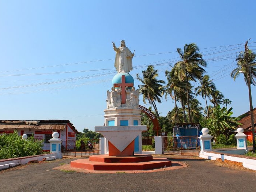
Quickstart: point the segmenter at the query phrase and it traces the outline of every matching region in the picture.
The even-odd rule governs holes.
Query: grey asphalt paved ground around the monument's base
[[[158,155],[187,167],[150,173],[82,173],[55,170],[77,158],[0,171],[0,191],[255,191],[256,171],[199,157]]]

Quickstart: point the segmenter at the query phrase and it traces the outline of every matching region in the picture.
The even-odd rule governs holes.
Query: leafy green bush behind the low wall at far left
[[[42,154],[43,142],[44,140],[36,140],[33,137],[22,139],[17,131],[0,135],[0,159]]]

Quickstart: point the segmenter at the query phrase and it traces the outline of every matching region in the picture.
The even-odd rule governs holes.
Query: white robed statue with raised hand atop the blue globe
[[[114,42],[112,43],[113,48],[116,51],[114,64],[116,71],[118,73],[129,73],[132,70],[132,58],[134,56],[134,52],[132,53],[128,47],[125,46],[124,40],[121,41],[121,46],[119,48],[116,47]]]

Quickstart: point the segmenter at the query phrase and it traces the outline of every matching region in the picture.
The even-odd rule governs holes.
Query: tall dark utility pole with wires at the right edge
[[[247,83],[248,83],[248,90],[249,90],[249,101],[250,101],[250,112],[251,112],[251,123],[252,123],[252,146],[253,146],[252,150],[255,153],[256,146],[255,146],[254,116],[253,116],[252,92],[251,92],[251,68],[249,67],[249,64],[248,64],[248,54],[249,54],[248,41],[246,41],[245,43],[245,61],[246,61]]]

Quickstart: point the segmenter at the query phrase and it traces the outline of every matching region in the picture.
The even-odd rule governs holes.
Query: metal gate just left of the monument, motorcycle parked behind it
[[[89,142],[93,145],[93,148],[89,148]],[[100,155],[101,148],[99,145],[99,139],[91,139],[87,141],[81,141],[81,157],[89,155]]]

